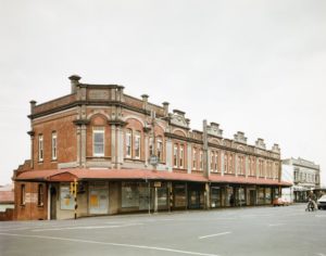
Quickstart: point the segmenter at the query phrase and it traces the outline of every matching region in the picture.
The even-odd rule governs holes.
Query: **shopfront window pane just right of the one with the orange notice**
[[[137,182],[122,182],[122,207],[139,207],[139,190]]]

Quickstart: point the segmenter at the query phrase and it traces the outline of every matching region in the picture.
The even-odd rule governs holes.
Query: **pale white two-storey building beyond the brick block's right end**
[[[321,189],[321,168],[311,161],[287,158],[283,161],[281,179],[292,182],[292,188],[283,189],[283,196],[291,202],[306,202],[308,191]]]

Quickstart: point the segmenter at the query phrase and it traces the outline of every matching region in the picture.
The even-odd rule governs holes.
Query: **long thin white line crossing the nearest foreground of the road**
[[[135,245],[135,244],[120,244],[120,243],[98,242],[98,241],[79,240],[79,239],[64,239],[64,238],[46,236],[46,235],[27,235],[27,234],[13,234],[13,233],[0,233],[0,235],[58,240],[58,241],[67,241],[67,242],[75,242],[75,243],[102,244],[102,245],[130,247],[130,248],[142,248],[142,249],[153,249],[153,251],[162,251],[162,252],[170,252],[170,253],[177,253],[177,254],[188,254],[188,255],[218,256],[217,254],[196,253],[196,252],[180,251],[180,249],[174,249],[174,248],[164,248],[164,247],[154,247],[154,246],[146,246],[146,245]]]

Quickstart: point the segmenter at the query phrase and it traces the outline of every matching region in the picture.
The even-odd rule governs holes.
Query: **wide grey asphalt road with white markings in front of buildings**
[[[326,256],[326,210],[304,207],[0,222],[0,255]]]

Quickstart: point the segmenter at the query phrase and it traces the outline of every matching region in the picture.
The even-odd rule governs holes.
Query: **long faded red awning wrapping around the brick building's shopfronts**
[[[291,187],[291,183],[279,182],[271,179],[255,179],[235,176],[211,175],[205,178],[201,174],[171,172],[166,170],[147,169],[55,169],[55,170],[29,170],[17,174],[17,181],[48,181],[70,182],[77,180],[166,180],[166,181],[192,181],[213,183],[239,183]]]

